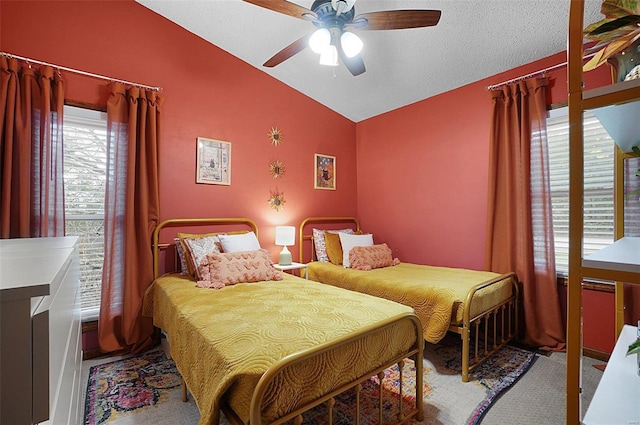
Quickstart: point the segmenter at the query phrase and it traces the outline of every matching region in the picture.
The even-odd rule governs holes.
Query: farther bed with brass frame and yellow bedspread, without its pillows
[[[311,241],[311,258],[315,258],[313,234],[307,228],[311,223],[313,227],[346,223],[360,232],[360,223],[355,217],[309,217],[299,228],[300,259],[305,258],[306,241]],[[464,382],[469,380],[473,369],[516,335],[518,280],[515,273],[393,263],[395,265],[356,270],[331,262],[311,261],[307,273],[311,280],[412,307],[422,323],[427,342],[438,343],[447,331],[460,334]]]

